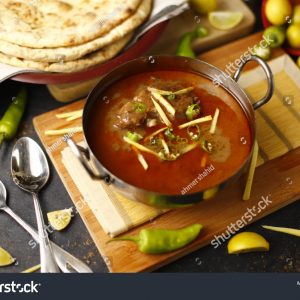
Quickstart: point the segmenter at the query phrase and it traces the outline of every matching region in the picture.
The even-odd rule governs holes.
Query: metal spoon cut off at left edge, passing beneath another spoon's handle
[[[6,203],[7,193],[6,188],[2,181],[0,180],[0,210],[3,210],[8,215],[10,215],[17,223],[19,223],[31,236],[39,243],[39,235],[36,230],[34,230],[28,223],[26,223],[22,218],[20,218],[11,208],[7,206]],[[55,243],[51,242],[55,260],[59,268],[64,273],[71,273],[75,270],[78,273],[92,273],[93,271],[81,260],[74,257]]]

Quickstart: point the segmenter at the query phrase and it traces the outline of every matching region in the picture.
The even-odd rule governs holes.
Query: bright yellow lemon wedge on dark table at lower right
[[[239,254],[269,251],[270,245],[263,236],[255,232],[241,232],[230,239],[227,249],[229,254]]]

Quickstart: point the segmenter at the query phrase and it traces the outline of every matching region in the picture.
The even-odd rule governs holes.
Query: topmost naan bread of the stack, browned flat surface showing
[[[142,0],[1,0],[0,40],[30,48],[75,46],[105,35]]]

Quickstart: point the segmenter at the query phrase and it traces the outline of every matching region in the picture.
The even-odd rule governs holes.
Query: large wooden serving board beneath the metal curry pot
[[[260,41],[260,38],[261,34],[249,36],[230,45],[205,53],[201,56],[201,59],[224,69],[228,62],[240,57],[247,50],[248,46],[253,46]],[[283,53],[279,49],[274,51],[273,56],[276,57]],[[251,67],[253,66],[248,66],[248,68]],[[78,189],[61,162],[60,152],[65,147],[65,144],[63,142],[57,143],[57,137],[44,135],[46,129],[63,127],[64,122],[55,118],[57,113],[81,109],[83,105],[84,101],[79,101],[38,116],[34,119],[34,125],[72,201],[77,206],[80,216],[111,272],[142,272],[157,269],[192,251],[209,245],[215,236],[226,231],[228,225],[242,220],[249,208],[256,207],[256,216],[253,216],[248,222],[250,224],[300,198],[300,148],[298,148],[257,168],[252,197],[247,202],[241,200],[244,185],[241,182],[236,182],[211,201],[202,202],[191,208],[172,210],[155,219],[154,222],[149,222],[128,232],[128,234],[137,234],[141,228],[179,228],[193,223],[203,224],[204,229],[199,238],[187,247],[164,255],[145,255],[137,251],[136,246],[130,242],[107,244],[109,237],[104,233],[89,207],[83,203]],[[54,124],[54,122],[56,123]],[[78,134],[74,136],[74,139],[79,142],[82,140],[82,136]],[[57,144],[57,148],[55,151],[49,151],[48,147],[54,143]],[[262,200],[262,197],[272,201],[265,209],[258,207],[258,202]]]

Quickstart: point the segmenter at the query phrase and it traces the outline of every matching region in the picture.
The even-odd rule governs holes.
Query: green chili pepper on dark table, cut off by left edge
[[[0,145],[4,139],[11,140],[15,137],[24,114],[26,102],[27,91],[22,88],[0,120]]]

